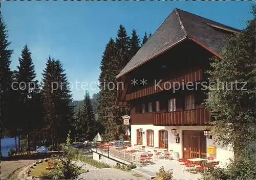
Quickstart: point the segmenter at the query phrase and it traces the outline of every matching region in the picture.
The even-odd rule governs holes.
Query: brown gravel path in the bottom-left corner
[[[1,161],[1,174],[3,179],[17,179],[19,171],[36,160]]]

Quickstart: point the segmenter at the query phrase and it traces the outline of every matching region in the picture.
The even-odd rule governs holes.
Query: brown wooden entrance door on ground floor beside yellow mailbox
[[[183,131],[183,158],[206,158],[203,131]]]

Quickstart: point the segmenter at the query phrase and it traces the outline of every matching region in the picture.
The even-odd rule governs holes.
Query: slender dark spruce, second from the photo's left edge
[[[18,61],[19,65],[17,66],[16,81],[19,85],[19,118],[22,119],[19,125],[22,129],[22,134],[27,136],[28,148],[30,150],[30,134],[35,125],[34,113],[38,112],[35,107],[39,106],[39,97],[37,97],[39,89],[38,83],[35,81],[35,69],[27,44],[24,46],[22,55],[18,58]]]

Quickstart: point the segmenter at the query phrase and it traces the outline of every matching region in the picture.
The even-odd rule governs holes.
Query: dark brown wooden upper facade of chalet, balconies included
[[[180,54],[180,52],[189,53]],[[211,121],[209,112],[203,105],[207,91],[201,90],[200,83],[207,81],[205,71],[209,68],[208,58],[211,56],[207,50],[193,42],[178,45],[156,60],[122,77],[120,81],[124,83],[124,90],[119,92],[119,106],[131,107],[132,124],[207,124]],[[172,62],[170,59],[179,59],[179,61]],[[145,85],[140,83],[131,85],[133,79],[146,79],[147,82]],[[193,90],[186,89],[188,83],[194,87]],[[191,104],[194,100],[193,105],[186,105],[188,96],[193,96],[189,101]],[[175,99],[175,111],[170,112],[168,100],[171,98]],[[160,104],[159,111],[156,110],[156,101]],[[148,111],[150,103],[151,112]],[[145,112],[142,111],[142,107],[145,107]]]

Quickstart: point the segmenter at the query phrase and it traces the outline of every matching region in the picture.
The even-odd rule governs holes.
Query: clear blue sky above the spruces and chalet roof
[[[11,69],[16,69],[18,57],[27,43],[41,80],[49,55],[59,59],[66,68],[68,80],[98,82],[101,56],[109,38],[116,37],[120,24],[130,35],[136,29],[140,38],[144,32],[156,31],[163,20],[179,8],[211,20],[245,28],[251,19],[252,2],[187,2],[187,1],[9,1],[2,3],[2,16],[6,21],[14,49]],[[87,86],[84,83],[83,85]],[[96,84],[88,88],[90,94],[98,92]],[[84,90],[72,89],[73,99],[83,99]],[[84,86],[84,87],[85,87]]]

